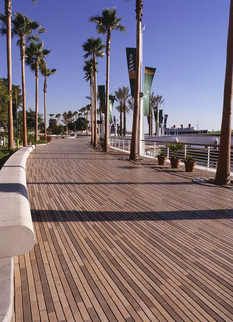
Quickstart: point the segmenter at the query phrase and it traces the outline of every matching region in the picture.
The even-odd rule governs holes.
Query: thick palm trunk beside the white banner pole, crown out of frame
[[[142,10],[143,0],[136,0],[136,12],[137,12],[137,41],[136,41],[136,79],[135,79],[135,95],[134,95],[134,115],[133,115],[133,127],[130,149],[130,160],[138,160],[138,121],[139,121],[139,108],[140,108],[140,71],[141,71],[141,24],[142,24]]]

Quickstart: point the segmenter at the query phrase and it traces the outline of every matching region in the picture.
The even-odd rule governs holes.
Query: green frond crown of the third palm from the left
[[[39,43],[31,42],[26,48],[26,64],[30,66],[31,70],[35,70],[36,62],[45,64],[44,57],[51,53],[49,49],[43,49],[43,41]]]

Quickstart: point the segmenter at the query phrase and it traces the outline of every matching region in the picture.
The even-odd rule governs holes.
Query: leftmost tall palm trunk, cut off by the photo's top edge
[[[11,0],[5,0],[6,15],[6,52],[7,52],[7,90],[12,90],[12,64],[11,64]],[[12,98],[8,101],[8,147],[14,149],[14,133],[13,133],[13,113]]]

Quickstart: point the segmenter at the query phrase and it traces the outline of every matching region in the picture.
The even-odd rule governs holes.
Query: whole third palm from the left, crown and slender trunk
[[[26,48],[26,64],[35,71],[35,141],[38,140],[38,77],[39,66],[45,64],[44,57],[51,53],[49,49],[43,49],[43,41],[31,42]]]

